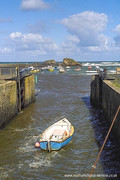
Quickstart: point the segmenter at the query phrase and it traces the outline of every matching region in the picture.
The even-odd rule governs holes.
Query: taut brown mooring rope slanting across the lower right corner
[[[100,158],[100,155],[101,155],[101,153],[102,153],[102,151],[103,151],[103,148],[104,148],[105,143],[106,143],[106,141],[107,141],[107,139],[108,139],[108,136],[109,136],[109,134],[110,134],[110,132],[111,132],[111,129],[112,129],[113,125],[114,125],[114,122],[115,122],[116,117],[117,117],[117,115],[118,115],[118,113],[119,113],[119,110],[120,110],[120,105],[119,105],[119,107],[118,107],[118,109],[117,109],[117,112],[116,112],[116,114],[115,114],[115,116],[114,116],[114,119],[113,119],[113,121],[112,121],[112,124],[111,124],[111,126],[110,126],[110,128],[109,128],[109,131],[108,131],[108,133],[107,133],[107,135],[106,135],[106,137],[105,137],[105,140],[104,140],[104,142],[103,142],[103,145],[102,145],[102,147],[101,147],[101,149],[100,149],[100,152],[99,152],[99,154],[98,154],[98,156],[97,156],[97,159],[96,159],[94,165],[92,166],[92,170],[91,170],[91,172],[90,172],[90,174],[89,174],[88,180],[91,179],[91,176],[92,176],[92,174],[93,174],[93,172],[94,172],[94,170],[95,170],[95,168],[96,168],[96,164],[97,164],[97,162],[98,162],[98,160],[99,160],[99,158]]]

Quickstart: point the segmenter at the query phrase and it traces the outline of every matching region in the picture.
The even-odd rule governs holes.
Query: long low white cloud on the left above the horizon
[[[44,38],[40,34],[22,34],[15,32],[10,34],[11,46],[15,51],[29,51],[45,54],[57,50],[58,46],[50,38]]]

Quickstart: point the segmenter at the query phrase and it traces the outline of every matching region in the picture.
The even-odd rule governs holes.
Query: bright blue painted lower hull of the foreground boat
[[[69,138],[67,138],[66,140],[64,140],[62,142],[57,142],[57,141],[50,141],[50,142],[42,141],[42,142],[40,142],[40,147],[41,147],[41,149],[48,150],[48,151],[60,150],[61,148],[66,146],[71,141],[71,139],[72,139],[72,136],[70,136]],[[50,149],[48,148],[48,146],[50,147]]]

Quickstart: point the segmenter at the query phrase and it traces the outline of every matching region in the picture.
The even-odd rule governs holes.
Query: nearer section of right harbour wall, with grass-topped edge
[[[120,88],[113,85],[112,82],[104,80],[102,91],[103,114],[111,124],[120,105]],[[116,118],[114,130],[120,135],[120,112]]]

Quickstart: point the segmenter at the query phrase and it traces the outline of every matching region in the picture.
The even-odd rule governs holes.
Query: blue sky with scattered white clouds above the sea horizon
[[[0,0],[0,62],[120,60],[120,0]]]

